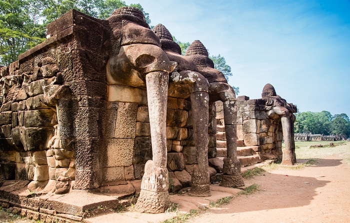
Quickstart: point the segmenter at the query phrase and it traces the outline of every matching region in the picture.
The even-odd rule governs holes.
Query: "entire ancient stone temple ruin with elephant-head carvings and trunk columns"
[[[255,140],[265,159],[281,155],[280,132],[286,139],[292,131],[283,99],[236,99],[200,41],[181,55],[170,32],[151,30],[137,8],[106,20],[70,10],[47,25],[47,37],[1,68],[0,204],[13,212],[80,222],[134,194],[136,210],[164,212],[169,191],[209,196],[210,181],[244,185],[237,136]],[[260,108],[263,118],[244,118]],[[220,159],[217,122],[226,140]],[[236,132],[245,126],[243,141]],[[288,164],[292,151],[283,153]]]

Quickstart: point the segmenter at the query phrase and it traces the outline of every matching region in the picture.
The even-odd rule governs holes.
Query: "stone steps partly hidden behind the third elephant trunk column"
[[[216,126],[216,158],[223,160],[227,156],[226,134],[224,125]],[[243,141],[237,140],[237,156],[241,167],[262,162],[260,156],[254,151],[256,146],[244,146]]]

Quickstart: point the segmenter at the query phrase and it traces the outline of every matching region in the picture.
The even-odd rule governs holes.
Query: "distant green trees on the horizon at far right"
[[[346,114],[332,116],[328,111],[296,113],[295,133],[312,133],[350,137],[350,120]]]

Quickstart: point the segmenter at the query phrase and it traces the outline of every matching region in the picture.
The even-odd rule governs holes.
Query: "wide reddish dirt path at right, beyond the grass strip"
[[[350,223],[350,166],[339,157],[301,170],[274,170],[247,183],[262,192],[211,209],[193,223]]]

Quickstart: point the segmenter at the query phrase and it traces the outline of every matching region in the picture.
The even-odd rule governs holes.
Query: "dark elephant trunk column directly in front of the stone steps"
[[[223,119],[226,132],[227,157],[223,159],[223,175],[220,186],[241,187],[244,186],[244,182],[240,175],[240,162],[237,159],[237,108],[235,101],[223,102]]]

